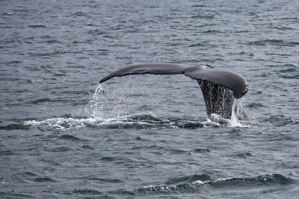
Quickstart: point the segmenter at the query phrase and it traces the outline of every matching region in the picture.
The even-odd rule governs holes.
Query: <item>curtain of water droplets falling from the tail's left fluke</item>
[[[140,113],[142,110],[149,110],[149,107],[143,104],[154,101],[154,99],[149,98],[152,89],[137,89],[139,87],[138,77],[134,78],[133,83],[130,78],[125,83],[118,80],[111,84],[99,84],[97,86],[95,93],[85,107],[85,111],[90,117],[121,118]]]

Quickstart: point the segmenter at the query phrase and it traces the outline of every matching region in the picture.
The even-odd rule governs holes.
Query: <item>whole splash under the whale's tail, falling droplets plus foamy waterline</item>
[[[204,117],[198,117],[194,115],[174,116],[173,114],[169,116],[169,114],[172,113],[173,110],[177,110],[179,108],[175,106],[175,108],[171,110],[166,107],[167,105],[165,105],[165,100],[169,99],[169,96],[161,96],[159,95],[160,91],[155,89],[157,87],[155,82],[157,82],[158,79],[150,79],[150,81],[144,81],[144,79],[141,79],[140,84],[138,84],[138,78],[134,78],[132,80],[134,81],[133,83],[129,80],[124,84],[123,81],[119,81],[119,79],[117,79],[116,82],[112,82],[110,84],[97,85],[94,94],[91,95],[90,101],[85,106],[86,116],[66,114],[42,121],[25,121],[20,125],[8,125],[3,128],[43,128],[67,130],[72,128],[84,127],[100,127],[105,129],[193,129],[205,127],[218,128],[225,126],[244,127],[242,121],[239,120],[240,115],[242,115],[243,113],[243,100],[235,100],[235,98],[233,98],[233,105],[230,109],[230,111],[232,111],[231,119],[224,119],[215,113],[212,113],[208,118],[205,115]],[[155,80],[155,82],[152,80]],[[150,84],[148,82],[150,82]],[[140,87],[146,89],[140,89]],[[225,104],[223,103],[223,101],[225,100],[225,96],[232,96],[232,92],[221,87],[214,87],[214,89],[217,89],[217,92],[219,92],[219,97],[223,98],[216,101],[216,104],[220,105],[220,107],[215,108],[219,108],[221,111],[224,111],[226,108]],[[192,89],[190,91],[192,92]],[[179,95],[180,92],[181,91],[177,91],[177,95]],[[151,98],[151,96],[157,96],[158,98]],[[145,105],[148,103],[150,105]],[[165,109],[167,109],[168,112],[161,112],[161,110]],[[192,110],[193,109],[190,109],[190,111]],[[158,112],[159,116],[156,116],[154,115],[154,113],[152,113],[155,111]]]

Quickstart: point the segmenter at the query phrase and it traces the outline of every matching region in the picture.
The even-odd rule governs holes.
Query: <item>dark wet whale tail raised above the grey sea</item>
[[[246,79],[236,72],[215,69],[207,64],[193,67],[172,63],[133,65],[110,73],[101,79],[100,83],[114,77],[140,74],[183,74],[198,82],[208,116],[214,113],[225,119],[231,119],[232,115],[238,111],[236,116],[239,119],[247,118],[244,110],[237,110],[235,106],[235,100],[242,98],[248,92]]]

